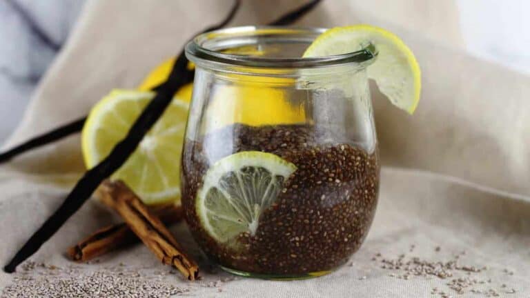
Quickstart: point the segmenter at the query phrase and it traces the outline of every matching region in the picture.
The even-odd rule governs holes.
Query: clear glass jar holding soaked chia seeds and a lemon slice
[[[186,46],[195,63],[181,163],[193,237],[237,275],[315,277],[359,249],[380,164],[356,52],[302,59],[324,29],[239,27]]]

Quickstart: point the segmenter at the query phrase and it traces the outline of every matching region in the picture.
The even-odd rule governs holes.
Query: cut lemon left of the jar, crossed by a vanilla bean
[[[81,135],[87,168],[104,159],[155,96],[154,92],[113,90],[92,108]],[[113,175],[146,204],[179,202],[180,159],[188,103],[174,98],[133,155]]]

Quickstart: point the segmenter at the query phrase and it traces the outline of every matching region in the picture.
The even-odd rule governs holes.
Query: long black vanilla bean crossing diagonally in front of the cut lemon
[[[226,23],[233,18],[238,8],[239,1],[236,1],[232,10],[230,10],[228,17],[224,19],[222,23],[207,28],[204,32],[225,26]],[[59,206],[39,230],[30,237],[26,244],[24,244],[17,254],[14,255],[9,264],[3,268],[5,272],[14,272],[19,264],[37,252],[42,244],[48,241],[48,239],[50,239],[50,237],[52,237],[52,235],[54,235],[55,232],[57,232],[57,230],[59,230],[59,228],[61,228],[61,226],[77,210],[79,210],[79,208],[81,208],[85,201],[99,186],[101,181],[112,175],[115,170],[125,163],[128,157],[134,152],[135,148],[137,148],[144,135],[146,135],[149,129],[162,115],[164,110],[166,110],[177,89],[190,79],[186,77],[186,74],[189,74],[189,72],[186,72],[187,66],[188,59],[186,59],[184,50],[182,50],[173,65],[173,69],[171,70],[166,83],[162,84],[161,88],[157,91],[155,98],[153,98],[144,111],[141,112],[141,115],[130,128],[126,137],[117,143],[108,157],[94,168],[88,170],[85,175],[77,181],[77,184],[74,186],[70,194],[68,194],[61,206]]]

